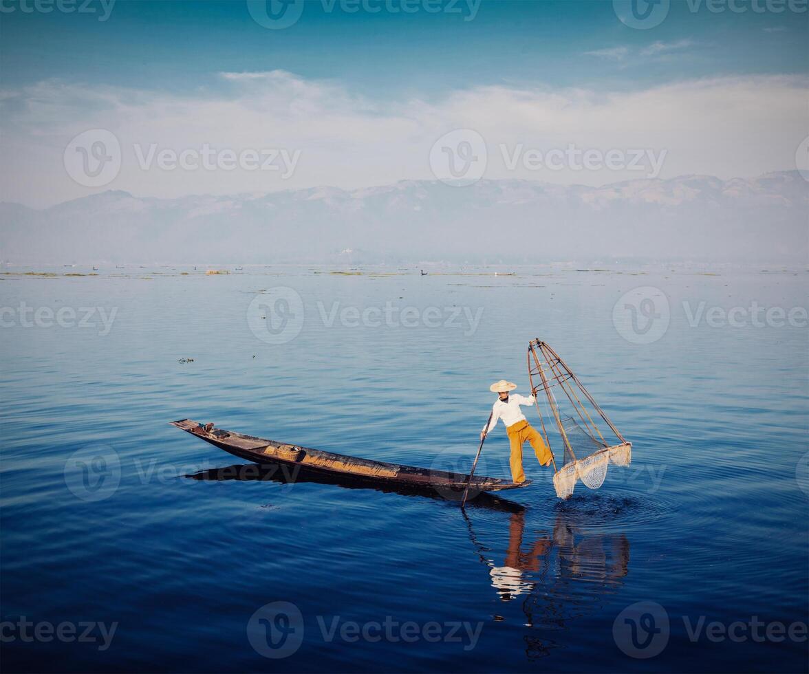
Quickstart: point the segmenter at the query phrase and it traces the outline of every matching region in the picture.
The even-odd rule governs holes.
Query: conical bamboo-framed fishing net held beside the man
[[[616,427],[612,426],[604,410],[593,400],[557,352],[544,341],[535,339],[528,344],[528,377],[531,379],[532,390],[536,391],[536,411],[540,413],[545,443],[551,447],[540,408],[543,393],[547,397],[549,408],[546,410],[547,416],[549,419],[553,418],[559,440],[565,447],[561,468],[557,467],[556,457],[553,457],[553,487],[559,498],[569,498],[577,480],[590,489],[598,489],[607,477],[608,464],[629,465],[632,460],[632,443],[627,442]],[[561,405],[554,389],[560,393]],[[608,430],[604,430],[607,433],[606,439],[595,419],[599,419],[602,426],[608,426]]]

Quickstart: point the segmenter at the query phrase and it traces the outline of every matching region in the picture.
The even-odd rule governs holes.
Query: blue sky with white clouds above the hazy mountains
[[[807,28],[801,0],[0,0],[0,200],[791,170]]]

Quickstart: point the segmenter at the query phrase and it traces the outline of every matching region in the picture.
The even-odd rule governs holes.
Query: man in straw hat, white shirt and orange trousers
[[[513,396],[509,395],[510,391],[514,391],[517,384],[513,384],[506,379],[500,379],[489,386],[489,391],[498,394],[498,400],[492,406],[492,420],[488,426],[481,430],[481,441],[486,437],[486,434],[497,425],[498,419],[503,420],[506,426],[506,433],[508,434],[509,443],[511,444],[511,478],[515,484],[519,485],[525,481],[525,473],[523,473],[523,443],[527,440],[531,443],[536,454],[536,460],[540,462],[540,466],[548,466],[551,463],[551,451],[548,445],[545,444],[539,432],[529,424],[525,415],[520,411],[520,405],[533,405],[536,400],[536,391],[531,396],[520,396],[515,393]]]

